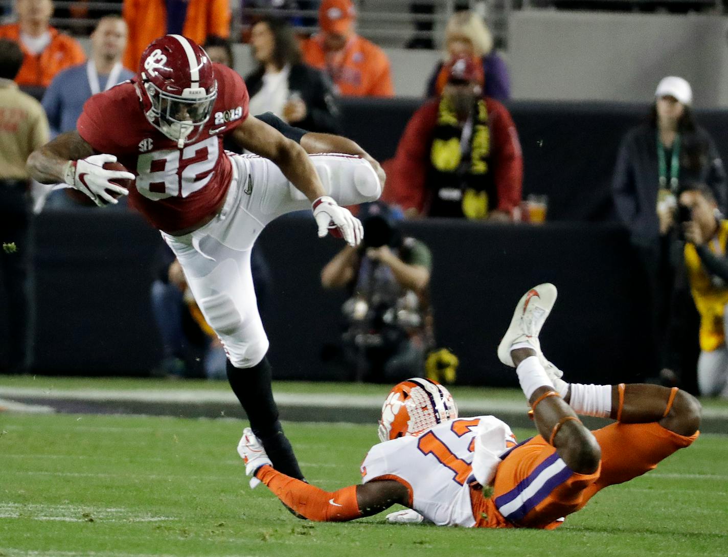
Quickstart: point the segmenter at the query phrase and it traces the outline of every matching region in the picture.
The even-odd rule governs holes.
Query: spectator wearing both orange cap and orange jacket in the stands
[[[327,71],[341,95],[393,97],[389,59],[376,44],[354,32],[356,18],[351,0],[323,0],[321,33],[301,45],[304,62]]]

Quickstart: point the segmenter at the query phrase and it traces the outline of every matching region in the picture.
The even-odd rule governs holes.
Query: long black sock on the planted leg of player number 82
[[[227,363],[227,376],[233,392],[248,414],[250,429],[263,443],[273,467],[291,478],[303,480],[293,447],[278,421],[278,408],[271,388],[271,365],[264,357],[252,368],[236,368]]]

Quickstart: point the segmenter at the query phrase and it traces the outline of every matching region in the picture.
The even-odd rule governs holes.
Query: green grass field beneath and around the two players
[[[243,422],[0,414],[0,556],[726,556],[728,437],[703,435],[555,532],[313,524],[259,486]],[[286,424],[309,481],[360,479],[376,428]],[[518,431],[519,437],[530,435]]]

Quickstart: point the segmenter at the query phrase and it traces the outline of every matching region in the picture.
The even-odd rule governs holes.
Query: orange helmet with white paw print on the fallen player
[[[379,441],[419,435],[440,422],[457,417],[450,392],[436,381],[413,377],[397,383],[384,400]]]

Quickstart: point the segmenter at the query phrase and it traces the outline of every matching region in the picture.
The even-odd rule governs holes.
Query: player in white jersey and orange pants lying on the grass
[[[502,363],[515,367],[536,437],[509,447],[513,434],[504,422],[451,419],[443,387],[410,379],[384,405],[383,442],[364,459],[363,484],[328,492],[289,478],[272,467],[250,430],[238,445],[246,473],[314,521],[350,521],[398,503],[441,526],[559,526],[597,491],[652,470],[695,441],[700,404],[677,388],[564,382],[539,344],[555,299],[551,284],[524,294],[498,348]],[[592,432],[577,414],[616,422]]]

